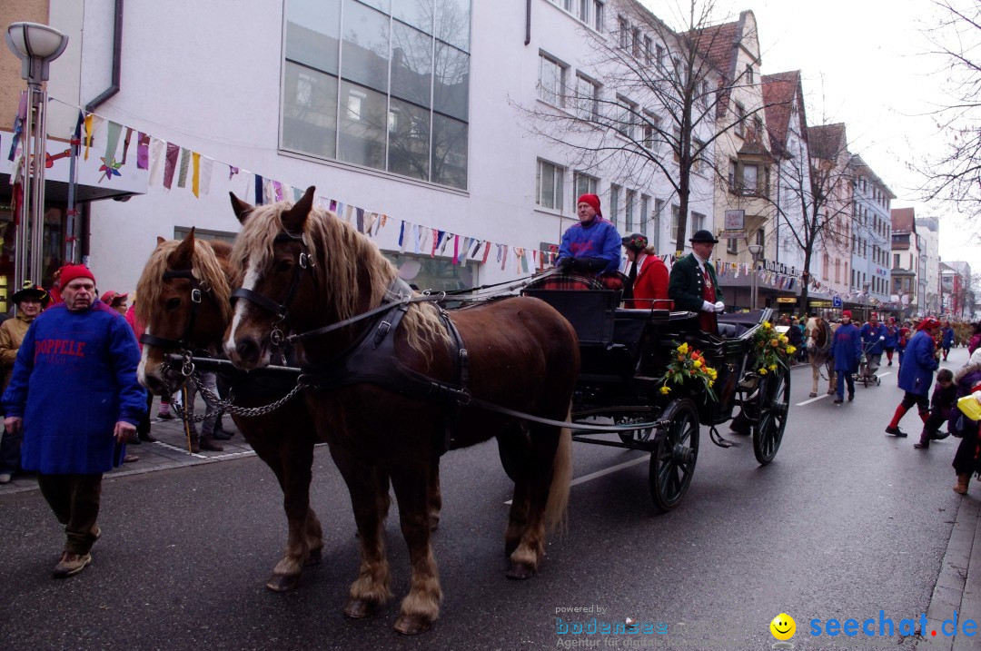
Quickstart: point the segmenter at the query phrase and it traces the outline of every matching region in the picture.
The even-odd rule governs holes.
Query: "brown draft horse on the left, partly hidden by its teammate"
[[[184,340],[190,349],[220,349],[232,317],[231,252],[232,246],[226,242],[195,239],[193,229],[182,241],[158,238],[157,248],[136,286],[136,314],[146,325],[146,332],[174,342],[173,346],[143,345],[137,373],[140,383],[154,393],[163,393],[167,380],[174,380],[164,377],[161,365],[165,355],[177,352],[179,340]],[[269,378],[251,381],[251,391],[241,384],[236,382],[236,404],[244,407],[275,402],[290,388],[278,386],[276,380]],[[296,586],[304,565],[320,562],[324,546],[320,522],[310,508],[316,442],[313,422],[298,397],[265,416],[232,419],[259,458],[276,474],[283,489],[289,532],[284,557],[266,586],[289,590]]]

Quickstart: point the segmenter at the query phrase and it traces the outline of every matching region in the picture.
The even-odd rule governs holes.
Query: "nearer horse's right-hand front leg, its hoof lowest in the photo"
[[[402,537],[409,547],[412,566],[409,593],[402,600],[395,630],[415,635],[429,630],[439,618],[439,570],[430,542],[429,496],[427,486],[432,476],[432,459],[427,468],[418,464],[391,469],[391,484],[398,500]]]

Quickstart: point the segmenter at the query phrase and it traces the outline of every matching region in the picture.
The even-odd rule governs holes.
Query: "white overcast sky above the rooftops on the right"
[[[678,0],[675,0],[676,2]],[[964,0],[975,2],[977,0]],[[844,122],[852,153],[860,154],[893,190],[894,208],[912,206],[917,217],[941,219],[940,254],[981,270],[963,241],[962,216],[926,205],[917,175],[906,169],[931,151],[943,151],[944,135],[924,114],[944,101],[938,59],[925,55],[924,29],[937,22],[930,0],[719,0],[732,17],[749,9],[759,29],[763,74],[800,70],[810,125]],[[646,0],[665,12],[661,0]],[[681,0],[686,4],[686,0]],[[669,16],[662,16],[673,24]],[[725,15],[718,17],[720,20]],[[975,243],[976,246],[976,243]]]

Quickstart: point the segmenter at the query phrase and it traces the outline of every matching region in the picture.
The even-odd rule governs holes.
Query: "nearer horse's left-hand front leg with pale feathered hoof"
[[[343,613],[352,619],[367,617],[391,597],[385,552],[385,516],[388,512],[388,477],[342,449],[331,445],[331,454],[351,495],[358,526],[361,566],[348,590]],[[423,488],[425,493],[425,486]]]

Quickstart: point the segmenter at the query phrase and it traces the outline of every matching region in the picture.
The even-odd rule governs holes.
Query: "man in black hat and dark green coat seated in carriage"
[[[707,230],[698,230],[691,239],[692,253],[674,264],[668,280],[668,298],[676,310],[698,313],[698,326],[705,332],[719,333],[715,315],[726,309],[715,268],[708,262],[719,240]]]

